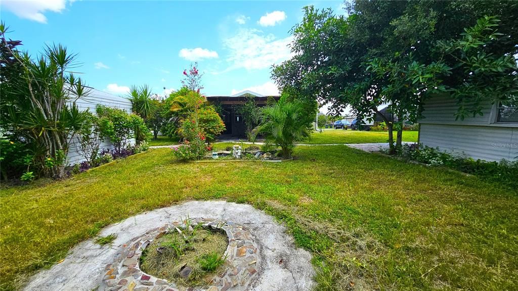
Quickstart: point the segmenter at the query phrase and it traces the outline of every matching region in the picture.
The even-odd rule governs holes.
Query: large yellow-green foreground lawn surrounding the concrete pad
[[[518,195],[346,146],[287,163],[178,163],[170,149],[3,188],[0,277],[15,289],[104,226],[191,199],[251,203],[313,255],[319,290],[516,290]],[[260,174],[258,174],[260,173]]]

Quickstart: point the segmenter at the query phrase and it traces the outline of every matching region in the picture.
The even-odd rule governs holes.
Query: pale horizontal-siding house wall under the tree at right
[[[513,161],[518,156],[518,107],[487,104],[483,115],[455,120],[455,100],[437,96],[426,101],[419,121],[419,141],[442,151],[485,161]]]

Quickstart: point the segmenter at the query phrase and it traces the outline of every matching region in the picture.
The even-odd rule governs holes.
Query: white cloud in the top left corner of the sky
[[[3,0],[2,8],[15,13],[16,16],[23,19],[30,19],[40,23],[47,23],[46,11],[61,12],[65,9],[67,0]]]

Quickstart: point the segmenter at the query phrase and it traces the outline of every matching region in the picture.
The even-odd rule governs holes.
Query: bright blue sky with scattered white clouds
[[[78,53],[76,71],[96,89],[124,95],[149,84],[179,89],[198,61],[206,95],[242,90],[276,94],[270,67],[289,59],[290,28],[302,7],[338,10],[341,1],[2,1],[8,37],[35,56],[45,44]],[[338,12],[338,11],[337,11]]]

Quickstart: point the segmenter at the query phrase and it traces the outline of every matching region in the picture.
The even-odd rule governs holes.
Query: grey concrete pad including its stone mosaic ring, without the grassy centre
[[[214,276],[210,286],[198,289],[177,288],[165,280],[153,278],[141,272],[138,263],[130,267],[133,261],[127,261],[128,266],[122,266],[127,259],[137,258],[138,261],[140,248],[145,249],[149,245],[153,239],[152,234],[167,231],[168,227],[174,229],[181,226],[183,222],[179,219],[188,215],[205,217],[206,226],[210,228],[217,228],[218,223],[226,222],[226,227],[240,232],[240,235],[232,236],[227,232],[228,248],[233,248],[235,253],[244,247],[245,255],[232,257],[229,254],[227,259],[241,261],[242,264],[229,266],[223,274]],[[284,226],[276,223],[272,216],[250,205],[225,201],[190,201],[129,217],[106,227],[99,236],[109,234],[117,235],[111,246],[100,246],[93,239],[79,243],[62,263],[38,272],[24,290],[91,291],[98,287],[99,291],[129,291],[132,286],[133,291],[220,291],[223,288],[228,291],[299,291],[311,290],[314,286],[311,255],[295,248],[293,238],[286,234]],[[145,238],[146,235],[150,238]],[[132,256],[128,258],[128,255]],[[256,259],[252,259],[253,255]],[[284,263],[281,265],[279,261]],[[111,274],[106,275],[111,269]],[[121,277],[123,273],[126,277]],[[104,279],[106,276],[113,278]],[[103,279],[114,280],[117,284],[107,286],[108,282],[112,284],[113,281],[106,281],[105,284]]]

